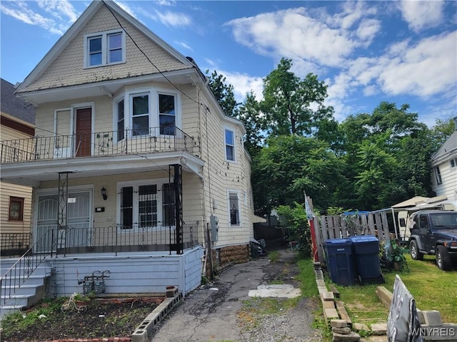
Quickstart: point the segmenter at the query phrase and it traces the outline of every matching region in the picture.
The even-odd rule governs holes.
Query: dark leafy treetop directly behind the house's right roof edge
[[[209,79],[208,86],[211,89],[211,93],[213,93],[224,113],[234,117],[237,103],[233,93],[233,86],[226,84],[226,77],[216,71],[209,75],[209,70],[206,70],[206,77]]]

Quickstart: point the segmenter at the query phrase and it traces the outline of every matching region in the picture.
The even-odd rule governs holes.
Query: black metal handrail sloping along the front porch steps
[[[31,274],[34,273],[46,257],[52,257],[54,248],[51,248],[50,251],[46,253],[33,253],[33,249],[38,246],[38,244],[41,244],[45,241],[45,239],[49,239],[49,234],[51,234],[51,242],[54,243],[54,230],[45,232],[32,247],[27,249],[27,251],[22,254],[22,256],[8,269],[8,271],[5,272],[5,274],[2,274],[0,279],[0,307],[3,307],[6,302],[9,301],[14,294],[16,294],[16,291],[19,290],[27,279],[29,279]]]

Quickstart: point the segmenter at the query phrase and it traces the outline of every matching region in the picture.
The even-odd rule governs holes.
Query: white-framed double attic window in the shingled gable
[[[84,36],[84,68],[125,63],[124,31],[106,31]]]

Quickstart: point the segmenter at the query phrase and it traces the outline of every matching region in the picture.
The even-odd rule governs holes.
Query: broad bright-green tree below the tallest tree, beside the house
[[[316,207],[330,207],[342,169],[326,142],[298,135],[268,138],[253,162],[256,212],[270,214],[273,207],[303,202],[303,190]]]

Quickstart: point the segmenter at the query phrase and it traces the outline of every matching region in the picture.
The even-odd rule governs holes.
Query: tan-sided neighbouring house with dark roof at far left
[[[1,79],[0,140],[34,136],[35,108],[14,95],[14,86]],[[31,242],[31,187],[0,182],[0,254],[24,253]]]

